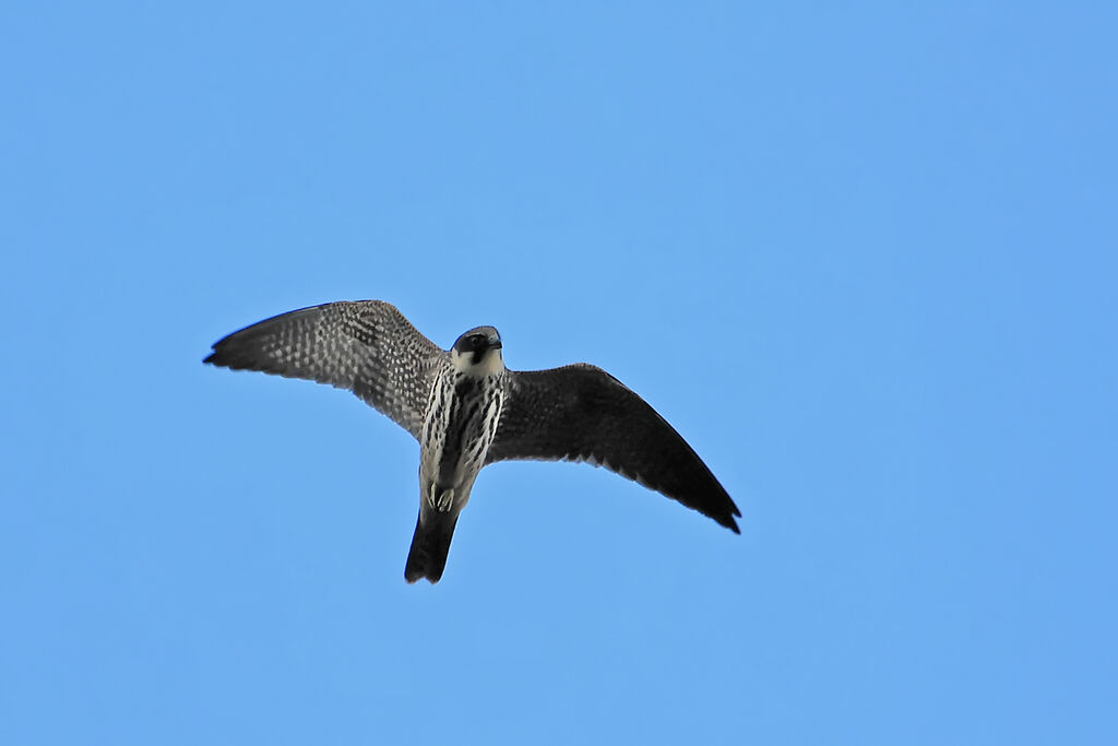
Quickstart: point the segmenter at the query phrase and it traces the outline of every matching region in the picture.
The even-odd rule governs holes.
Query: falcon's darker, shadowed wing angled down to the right
[[[740,532],[733,517],[741,512],[686,441],[595,366],[509,371],[509,396],[486,463],[518,459],[605,466]]]

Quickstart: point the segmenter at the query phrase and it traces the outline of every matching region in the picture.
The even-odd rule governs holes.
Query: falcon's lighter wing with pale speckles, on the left
[[[433,372],[445,355],[395,305],[357,301],[292,311],[235,331],[203,362],[350,389],[418,438]]]

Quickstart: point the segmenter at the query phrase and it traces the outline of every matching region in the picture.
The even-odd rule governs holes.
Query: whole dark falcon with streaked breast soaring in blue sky
[[[283,313],[214,343],[203,362],[353,391],[419,441],[419,518],[404,577],[438,583],[458,514],[483,466],[585,461],[740,533],[741,512],[707,464],[639,396],[601,368],[509,370],[493,327],[449,350],[385,301]]]

